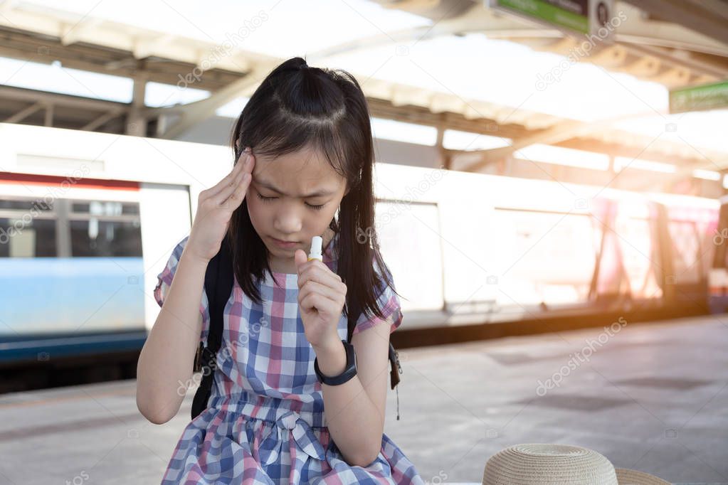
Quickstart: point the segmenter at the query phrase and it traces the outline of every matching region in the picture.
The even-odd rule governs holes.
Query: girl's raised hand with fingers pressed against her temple
[[[223,180],[199,193],[197,214],[185,247],[194,257],[209,262],[220,251],[230,217],[248,192],[256,165],[256,157],[252,152],[250,147],[246,147]]]

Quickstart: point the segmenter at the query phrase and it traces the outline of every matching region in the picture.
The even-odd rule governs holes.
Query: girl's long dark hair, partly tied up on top
[[[309,67],[301,57],[286,60],[250,97],[231,138],[236,161],[246,146],[256,155],[273,157],[307,147],[325,154],[331,167],[347,181],[348,193],[341,199],[339,217],[335,215],[329,224],[338,234],[332,249],[338,257],[336,272],[347,284],[347,318],[356,322],[361,312],[367,312],[368,318],[384,318],[377,298],[384,285],[395,288],[374,228],[371,124],[364,93],[354,76]],[[228,236],[237,281],[260,304],[253,278],[260,280],[264,271],[271,270],[268,249],[250,222],[247,199],[233,213]],[[357,236],[365,236],[364,243]],[[375,262],[384,278],[373,268]],[[354,307],[357,315],[352,314]]]

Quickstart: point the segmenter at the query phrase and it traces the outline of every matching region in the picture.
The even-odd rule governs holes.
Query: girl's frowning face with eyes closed
[[[323,236],[323,247],[328,244],[333,236],[328,225],[346,193],[346,180],[319,151],[303,148],[276,158],[256,155],[245,199],[250,222],[268,248],[272,271],[296,273],[293,254],[296,249],[308,254],[313,236]],[[280,246],[275,239],[295,244]]]

